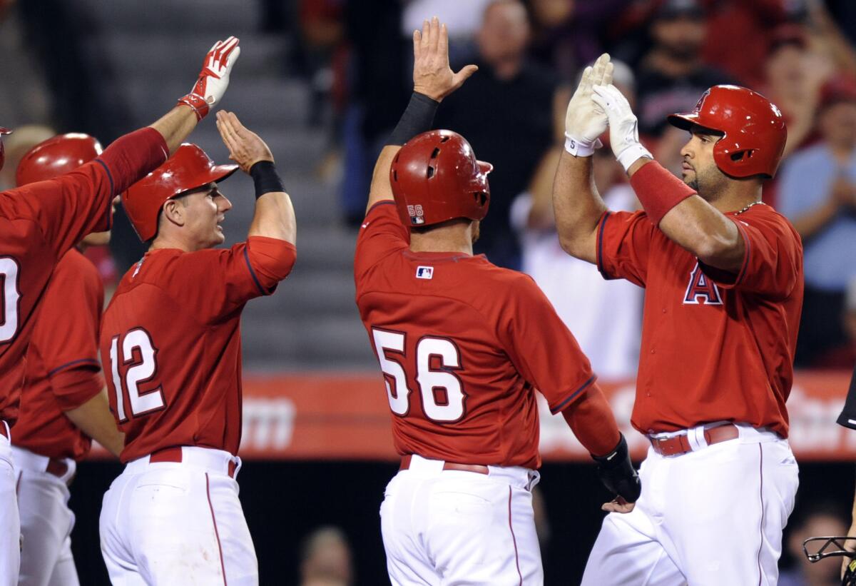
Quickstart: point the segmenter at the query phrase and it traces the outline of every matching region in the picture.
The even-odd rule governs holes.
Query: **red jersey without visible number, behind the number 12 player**
[[[14,445],[47,457],[86,456],[92,440],[63,412],[104,388],[98,363],[103,307],[98,269],[72,248],[56,265],[36,315]]]

